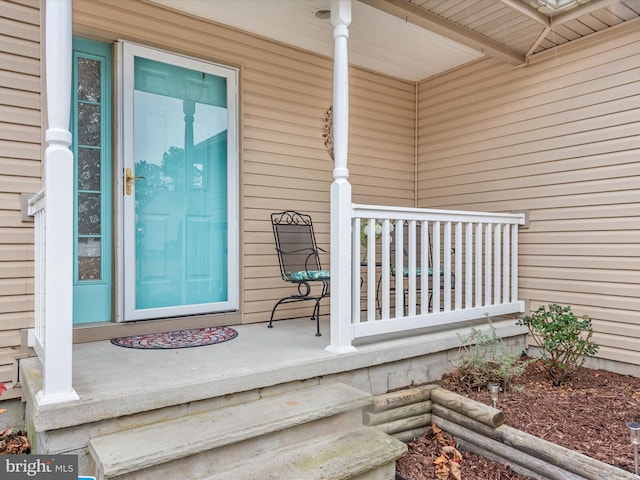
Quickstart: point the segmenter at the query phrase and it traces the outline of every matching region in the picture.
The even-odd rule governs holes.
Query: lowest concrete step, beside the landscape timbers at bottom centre
[[[393,480],[407,446],[374,427],[267,452],[198,480]]]

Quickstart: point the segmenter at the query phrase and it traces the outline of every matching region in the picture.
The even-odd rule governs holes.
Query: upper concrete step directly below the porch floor
[[[331,383],[92,438],[100,480],[196,478],[268,450],[362,425],[372,396]],[[213,470],[212,470],[213,468]]]

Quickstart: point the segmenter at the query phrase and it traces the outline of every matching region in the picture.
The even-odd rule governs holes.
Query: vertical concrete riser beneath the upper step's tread
[[[99,480],[157,480],[158,478],[197,478],[224,470],[229,465],[283,447],[296,445],[323,435],[356,428],[362,425],[362,411],[352,410],[329,418],[303,423],[260,437],[240,439],[214,450],[180,458],[172,462],[115,477],[99,476]],[[222,439],[221,439],[222,440]],[[379,480],[379,479],[376,479]]]

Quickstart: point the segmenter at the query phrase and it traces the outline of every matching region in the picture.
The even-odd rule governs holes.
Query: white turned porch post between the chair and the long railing
[[[354,352],[351,345],[351,184],[349,146],[349,58],[347,39],[351,0],[331,0],[333,25],[333,150],[331,184],[331,343],[334,353]]]

